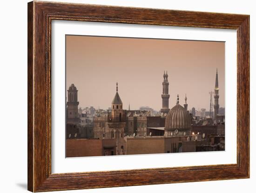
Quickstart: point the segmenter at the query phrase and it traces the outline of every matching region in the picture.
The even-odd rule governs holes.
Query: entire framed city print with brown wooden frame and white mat
[[[249,15],[28,3],[28,190],[249,178]]]

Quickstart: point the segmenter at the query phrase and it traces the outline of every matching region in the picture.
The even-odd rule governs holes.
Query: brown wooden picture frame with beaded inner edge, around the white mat
[[[237,164],[51,173],[51,21],[237,30]],[[249,178],[249,15],[33,1],[28,3],[28,190]],[[118,184],[116,183],[118,181]]]

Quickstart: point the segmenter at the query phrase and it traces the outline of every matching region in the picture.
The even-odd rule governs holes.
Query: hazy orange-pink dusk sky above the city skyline
[[[116,93],[123,108],[162,108],[163,72],[168,71],[169,108],[184,104],[188,109],[209,111],[216,68],[219,104],[225,105],[225,43],[192,40],[161,40],[95,36],[66,36],[66,88],[74,83],[79,107],[107,109]],[[214,98],[213,98],[214,102]]]

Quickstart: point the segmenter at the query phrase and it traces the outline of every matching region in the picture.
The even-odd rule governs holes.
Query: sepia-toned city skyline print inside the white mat
[[[66,35],[66,157],[224,151],[224,74],[221,41]]]

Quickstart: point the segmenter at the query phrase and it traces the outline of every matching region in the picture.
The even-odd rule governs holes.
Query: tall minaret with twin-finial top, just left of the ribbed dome
[[[168,73],[164,71],[163,73],[163,82],[162,82],[162,113],[168,113],[169,112],[169,98],[170,95],[168,94],[168,88],[169,82],[168,82]]]

